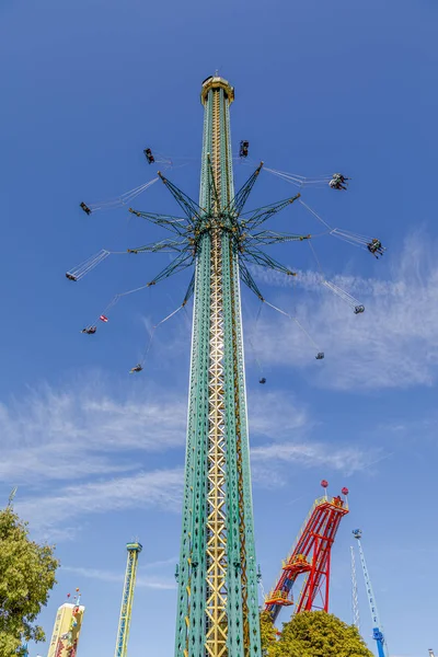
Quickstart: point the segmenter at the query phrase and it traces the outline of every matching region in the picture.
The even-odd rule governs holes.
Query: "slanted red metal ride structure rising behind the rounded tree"
[[[327,496],[327,482],[321,482],[324,496],[318,498],[297,537],[277,583],[265,600],[265,611],[277,620],[281,607],[293,604],[292,586],[300,575],[304,584],[295,613],[328,611],[331,552],[341,520],[348,514],[348,488],[336,497]]]

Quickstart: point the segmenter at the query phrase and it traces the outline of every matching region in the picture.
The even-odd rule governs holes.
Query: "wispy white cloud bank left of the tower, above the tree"
[[[38,535],[71,539],[92,514],[180,510],[183,464],[151,470],[145,457],[183,448],[185,395],[142,393],[117,397],[94,379],[0,405],[0,476],[19,484],[15,508]]]

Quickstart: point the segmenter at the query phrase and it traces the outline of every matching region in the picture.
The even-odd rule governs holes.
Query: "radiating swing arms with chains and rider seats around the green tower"
[[[247,140],[242,140],[240,142],[239,155],[235,157],[234,160],[242,161],[243,159],[247,159],[249,146],[250,142]],[[164,165],[163,171],[172,168],[172,160],[170,158],[166,158],[161,154],[153,154],[150,148],[146,148],[143,150],[143,153],[149,164],[162,163]],[[209,159],[208,168],[210,169],[209,175],[212,177],[211,161]],[[310,343],[316,348],[315,359],[322,360],[324,358],[324,351],[321,351],[318,348],[318,345],[315,344],[311,335],[308,333],[308,331],[303,327],[303,325],[299,322],[298,318],[291,315],[290,313],[287,313],[286,311],[277,308],[276,306],[267,301],[267,299],[262,295],[257,284],[255,283],[252,270],[256,267],[273,269],[274,272],[279,272],[285,276],[297,277],[296,272],[290,270],[288,267],[270,257],[265,252],[264,247],[286,242],[306,241],[311,249],[312,255],[320,270],[321,285],[331,292],[333,292],[336,297],[338,297],[344,303],[349,306],[355,314],[361,314],[362,312],[365,312],[365,306],[360,303],[357,299],[355,299],[355,297],[353,297],[346,290],[337,286],[335,283],[325,279],[320,261],[314,251],[312,241],[315,238],[331,235],[343,240],[348,244],[358,246],[367,251],[376,258],[379,258],[384,254],[385,247],[382,245],[381,241],[378,238],[370,238],[341,228],[332,227],[325,219],[323,219],[319,214],[316,214],[316,211],[313,208],[311,208],[307,203],[304,203],[300,192],[290,198],[286,198],[269,206],[260,207],[251,211],[243,211],[246,199],[253,188],[253,185],[258,174],[262,171],[275,175],[276,177],[286,181],[287,183],[292,184],[296,187],[299,187],[300,189],[307,187],[321,188],[321,186],[327,185],[330,189],[347,191],[348,182],[350,181],[350,178],[341,173],[334,173],[331,176],[319,176],[314,178],[308,178],[299,176],[298,174],[286,173],[283,171],[277,171],[275,169],[264,166],[264,163],[261,162],[260,165],[253,172],[253,174],[250,176],[247,182],[238,192],[234,199],[232,200],[232,204],[230,203],[229,207],[226,208],[234,218],[233,224],[230,226],[229,230],[233,234],[233,245],[239,254],[240,276],[242,281],[250,288],[250,290],[252,290],[256,295],[258,300],[262,302],[262,306],[263,303],[265,303],[267,307],[270,307],[273,310],[276,310],[278,313],[293,321],[299,326],[299,328],[307,335]],[[185,214],[185,217],[152,214],[148,211],[136,210],[132,207],[130,207],[130,203],[135,198],[140,196],[140,194],[146,192],[149,187],[151,187],[154,183],[159,182],[160,180],[162,183],[164,183],[166,188],[175,198],[176,203],[180,205],[181,209]],[[325,228],[325,231],[319,234],[292,234],[266,230],[265,228],[263,228],[263,230],[261,229],[262,224],[264,224],[265,221],[272,219],[274,215],[278,214],[280,210],[293,203],[301,204],[301,206]],[[127,251],[108,251],[106,249],[101,249],[97,253],[91,255],[89,258],[81,262],[80,264],[72,267],[66,273],[66,277],[68,280],[79,281],[84,276],[90,274],[93,269],[95,269],[97,265],[101,265],[110,255],[125,255],[139,253],[171,253],[175,256],[170,265],[162,269],[154,278],[152,278],[147,284],[141,285],[135,289],[126,290],[124,292],[115,295],[110,301],[110,303],[107,303],[107,306],[104,308],[104,310],[101,313],[99,313],[96,319],[82,328],[81,333],[84,333],[87,335],[94,335],[97,332],[99,323],[106,324],[108,322],[110,311],[113,310],[113,308],[123,297],[145,290],[164,280],[165,278],[169,278],[170,276],[182,272],[183,269],[191,267],[193,268],[196,266],[200,239],[203,232],[206,230],[206,228],[201,226],[201,212],[204,211],[204,208],[200,208],[194,200],[192,200],[181,189],[178,189],[178,187],[176,187],[170,180],[168,180],[163,175],[163,172],[158,171],[158,175],[151,181],[148,181],[142,185],[139,185],[138,187],[135,187],[134,189],[130,189],[129,192],[126,192],[114,199],[94,203],[90,205],[87,205],[82,201],[80,204],[80,207],[88,216],[95,215],[97,211],[128,207],[128,210],[131,215],[141,219],[146,219],[151,223],[158,224],[175,235],[174,239],[163,239],[151,244],[128,249]],[[165,316],[152,326],[150,339],[148,342],[143,357],[140,362],[138,362],[135,367],[132,367],[129,370],[130,373],[138,373],[143,370],[145,360],[149,353],[154,331],[161,324],[174,316],[180,310],[186,307],[186,303],[194,293],[194,289],[195,274],[193,274],[191,284],[188,286],[183,302],[172,313],[170,313],[168,316]],[[262,309],[262,306],[260,307],[260,310]],[[258,321],[258,318],[260,312],[257,313],[256,323]],[[265,377],[262,376],[262,378],[260,379],[260,383],[266,383]]]

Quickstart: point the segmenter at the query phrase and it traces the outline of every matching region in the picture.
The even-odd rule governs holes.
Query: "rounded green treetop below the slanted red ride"
[[[268,654],[272,657],[270,653]],[[373,657],[354,625],[325,611],[304,611],[285,623],[274,657]]]

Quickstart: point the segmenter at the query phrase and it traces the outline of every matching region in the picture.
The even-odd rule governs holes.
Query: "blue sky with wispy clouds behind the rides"
[[[383,260],[326,237],[325,276],[366,306],[323,289],[306,243],[270,253],[295,284],[255,273],[325,351],[244,291],[257,560],[268,589],[325,477],[350,489],[334,548],[332,611],[350,621],[350,531],[364,546],[392,657],[438,649],[434,564],[438,532],[438,265],[435,2],[212,4],[175,0],[3,0],[0,7],[0,494],[33,535],[58,543],[62,567],[41,622],[79,586],[80,655],[112,654],[125,543],[143,543],[129,652],[173,650],[191,322],[157,331],[145,372],[127,374],[147,331],[184,297],[188,275],[122,299],[95,336],[80,330],[115,293],[147,283],[165,254],[111,256],[78,284],[65,272],[101,247],[161,233],[124,209],[87,217],[153,177],[142,149],[169,154],[169,175],[197,197],[200,82],[219,68],[237,89],[234,147],[303,176],[343,171],[347,194],[304,189],[332,226],[378,235]],[[176,164],[186,164],[176,168]],[[237,183],[251,172],[237,164]],[[295,188],[264,173],[249,206]],[[153,185],[135,207],[175,212]],[[320,232],[298,205],[277,230]],[[188,309],[191,313],[191,309]],[[371,624],[359,574],[364,635]],[[287,613],[281,615],[287,620]],[[369,639],[371,643],[371,639]],[[372,646],[373,647],[373,646]],[[32,657],[46,646],[33,647]]]

